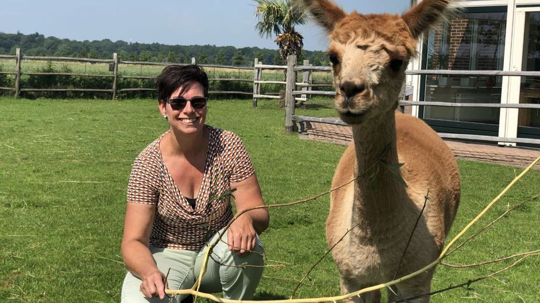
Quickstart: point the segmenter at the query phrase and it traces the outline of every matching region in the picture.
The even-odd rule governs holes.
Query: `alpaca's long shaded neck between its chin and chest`
[[[356,151],[354,200],[356,212],[362,217],[384,219],[399,212],[403,184],[392,170],[398,172],[395,112],[353,125]]]

